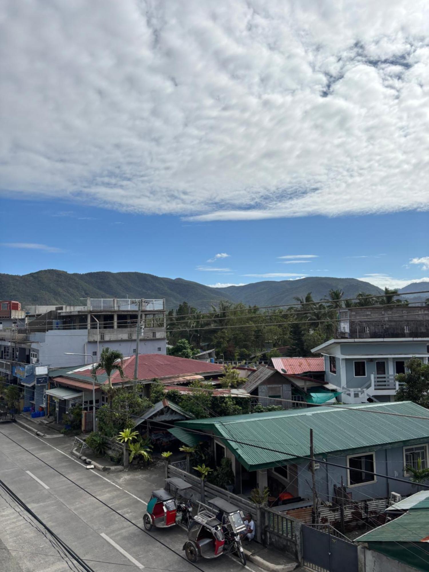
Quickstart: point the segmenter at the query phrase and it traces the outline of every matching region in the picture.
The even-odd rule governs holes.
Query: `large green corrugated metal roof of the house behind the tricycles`
[[[417,415],[428,420],[375,415],[370,411]],[[311,428],[315,455],[425,442],[429,439],[429,410],[412,402],[359,403],[179,421],[176,426],[223,437],[226,446],[247,470],[257,470],[274,467],[279,462],[296,463],[303,456],[309,456]],[[234,443],[229,439],[282,452]]]

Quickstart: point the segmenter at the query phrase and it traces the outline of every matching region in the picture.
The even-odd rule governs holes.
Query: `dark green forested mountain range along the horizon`
[[[62,270],[41,270],[23,276],[0,274],[0,299],[18,300],[21,304],[82,304],[82,298],[146,297],[165,298],[166,307],[177,308],[187,301],[201,310],[210,309],[220,300],[243,302],[258,306],[292,304],[295,296],[311,292],[314,300],[327,296],[330,289],[342,289],[344,297],[356,296],[358,292],[372,295],[382,293],[373,284],[355,278],[311,276],[299,280],[266,280],[210,288],[181,278],[171,279],[142,272],[88,272],[68,273]],[[429,283],[409,284],[400,292],[428,290]],[[424,299],[427,295],[410,296],[410,301]]]

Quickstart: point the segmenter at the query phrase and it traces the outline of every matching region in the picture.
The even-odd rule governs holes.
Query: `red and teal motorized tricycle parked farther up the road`
[[[146,513],[143,515],[143,526],[146,530],[152,527],[169,528],[170,526],[184,523],[186,527],[192,521],[192,504],[188,501],[177,502],[177,494],[188,488],[192,488],[192,484],[186,483],[185,480],[177,477],[165,479],[169,484],[169,488],[175,490],[170,492],[165,488],[152,491]],[[192,496],[191,496],[192,498]]]

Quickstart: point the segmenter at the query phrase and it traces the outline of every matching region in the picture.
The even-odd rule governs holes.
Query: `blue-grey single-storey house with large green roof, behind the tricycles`
[[[422,467],[428,466],[429,410],[411,402],[190,419],[170,429],[182,442],[194,445],[202,436],[186,429],[204,433],[205,439],[210,436],[218,466],[224,457],[231,459],[235,494],[249,495],[252,488],[268,486],[272,496],[288,492],[298,501],[307,500],[307,506],[312,498],[312,475],[303,457],[310,455],[310,429],[314,455],[320,459],[315,463],[320,501],[332,502],[341,482],[353,501],[389,498],[392,491],[410,495],[415,484],[406,467],[416,468],[418,459]]]

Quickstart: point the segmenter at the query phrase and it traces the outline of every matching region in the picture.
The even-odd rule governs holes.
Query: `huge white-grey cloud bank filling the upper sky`
[[[9,1],[8,196],[193,220],[427,209],[426,0]]]

